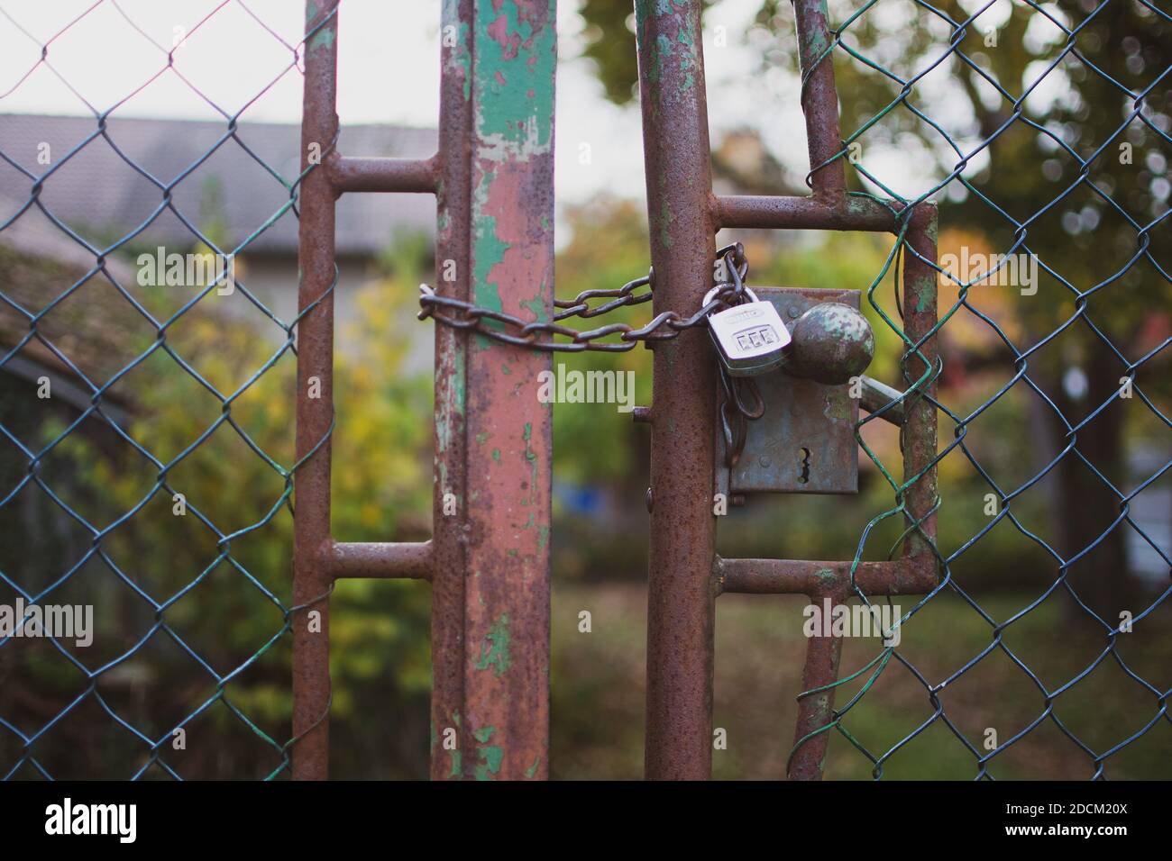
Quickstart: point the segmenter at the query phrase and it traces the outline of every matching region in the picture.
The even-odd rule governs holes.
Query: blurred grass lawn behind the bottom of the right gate
[[[1036,595],[979,599],[1003,623]],[[1055,594],[1002,633],[1002,643],[1052,692],[1082,674],[1103,651],[1095,628],[1072,624]],[[902,599],[902,611],[913,599]],[[1165,602],[1167,603],[1167,602]],[[716,686],[713,724],[728,733],[714,751],[713,774],[728,779],[777,779],[793,743],[806,640],[800,596],[725,595],[717,602]],[[590,610],[592,631],[578,630]],[[1123,635],[1119,658],[1149,684],[1172,688],[1172,607]],[[642,777],[646,592],[639,585],[554,585],[553,719],[551,766],[561,779]],[[972,779],[976,756],[956,737],[986,753],[989,730],[1004,744],[1047,709],[1038,684],[995,648],[958,676],[993,642],[993,628],[953,593],[941,593],[904,627],[902,641],[879,678],[843,718],[843,726],[872,757],[884,779]],[[881,650],[878,641],[847,638],[841,670],[863,668]],[[902,662],[899,660],[902,658]],[[904,663],[906,662],[906,664]],[[922,676],[924,681],[917,677]],[[870,674],[838,688],[836,706],[849,702]],[[936,691],[942,713],[933,704]],[[1127,676],[1108,655],[1093,670],[1051,699],[1050,717],[999,753],[988,772],[999,779],[1086,779],[1102,756],[1154,722],[1144,734],[1104,763],[1112,779],[1172,778],[1172,722],[1157,717],[1158,696]],[[952,729],[948,726],[950,722]],[[1058,723],[1085,745],[1079,746]],[[929,722],[911,740],[905,739]],[[829,779],[870,779],[874,763],[832,731]]]

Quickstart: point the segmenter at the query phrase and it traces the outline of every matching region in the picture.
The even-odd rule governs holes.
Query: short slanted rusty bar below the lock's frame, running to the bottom
[[[836,587],[818,589],[810,594],[810,601],[822,604],[830,599],[832,606],[845,604],[847,589]],[[805,667],[802,670],[802,690],[810,691],[824,688],[838,678],[838,662],[843,656],[843,638],[816,634],[806,642]],[[822,770],[826,764],[826,747],[830,744],[830,730],[817,736],[802,739],[811,732],[823,729],[833,718],[834,689],[818,691],[798,701],[798,723],[793,732],[793,754],[786,767],[790,780],[822,780]]]

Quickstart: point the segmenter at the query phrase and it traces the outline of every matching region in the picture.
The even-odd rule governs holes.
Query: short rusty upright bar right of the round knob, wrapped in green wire
[[[911,224],[907,228],[907,244],[915,250],[917,254],[905,252],[904,258],[904,330],[912,343],[919,344],[918,351],[924,360],[914,356],[908,361],[906,383],[908,387],[919,380],[927,365],[933,367],[940,354],[938,339],[933,335],[920,344],[927,336],[932,327],[936,324],[936,226],[938,210],[933,201],[925,201],[915,207],[911,214]],[[931,262],[926,262],[931,261]],[[935,396],[935,381],[925,388],[929,396]],[[907,419],[904,424],[901,446],[904,450],[904,480],[907,481],[913,476],[927,470],[933,458],[936,456],[936,408],[928,398],[918,398],[914,403],[905,405]],[[922,519],[921,528],[925,535],[912,532],[904,542],[904,554],[914,556],[933,554],[932,542],[936,534],[936,515],[933,512],[936,505],[936,471],[928,470],[912,485],[905,494],[907,513],[911,518]]]

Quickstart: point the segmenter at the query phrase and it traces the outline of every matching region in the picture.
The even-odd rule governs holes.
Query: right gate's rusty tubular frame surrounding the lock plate
[[[647,211],[655,272],[654,312],[690,313],[710,287],[716,232],[724,227],[904,233],[905,334],[914,344],[909,373],[936,361],[936,209],[908,212],[897,201],[849,196],[840,155],[838,97],[827,55],[825,0],[795,0],[804,77],[802,107],[812,193],[805,198],[717,196],[711,186],[700,0],[636,0],[639,86],[643,121]],[[716,554],[713,492],[716,381],[704,333],[684,332],[653,344],[650,558],[647,619],[646,775],[707,779],[713,751],[715,600],[725,593],[805,594],[845,601],[854,586],[867,595],[926,593],[938,583],[935,534],[936,412],[931,398],[907,408],[902,433],[906,512],[911,529],[900,555],[886,562],[725,560]],[[909,350],[912,353],[913,350]],[[926,394],[933,395],[928,385]],[[812,637],[804,690],[838,676],[841,640]],[[791,779],[818,779],[833,689],[799,704]]]

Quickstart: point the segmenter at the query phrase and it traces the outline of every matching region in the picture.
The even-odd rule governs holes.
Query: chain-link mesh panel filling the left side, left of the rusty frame
[[[277,777],[289,764],[299,315],[252,275],[295,286],[294,266],[274,275],[263,261],[295,247],[304,175],[295,127],[240,123],[273,88],[300,86],[305,39],[244,2],[188,12],[199,16],[161,29],[104,0],[30,32],[53,16],[0,8],[6,71],[19,71],[2,95],[48,76],[88,115],[0,118],[9,778]],[[132,81],[116,98],[118,76],[79,74],[102,50],[79,40],[103,16]],[[224,28],[252,28],[254,53],[241,86],[204,91]],[[209,119],[165,134],[122,118],[144,93]],[[216,745],[189,745],[209,733]]]

